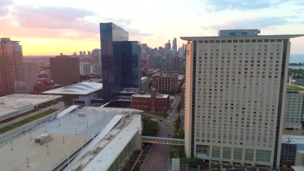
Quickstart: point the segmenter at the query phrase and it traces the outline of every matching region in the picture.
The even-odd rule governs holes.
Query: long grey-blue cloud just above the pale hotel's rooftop
[[[288,17],[279,17],[279,16],[273,16],[273,17],[254,17],[254,18],[243,18],[243,19],[237,19],[232,20],[228,22],[224,22],[222,24],[217,25],[210,25],[209,28],[211,29],[234,29],[237,28],[266,28],[269,26],[275,26],[275,25],[283,25],[288,23],[287,21]]]

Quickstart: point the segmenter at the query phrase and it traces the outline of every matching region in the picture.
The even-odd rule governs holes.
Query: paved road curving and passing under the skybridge
[[[162,117],[156,116],[156,115],[151,115],[144,113],[144,115],[149,115],[152,118],[156,119],[159,125],[159,132],[158,136],[160,137],[172,137],[173,131],[174,131],[174,126],[172,122],[177,118],[177,111],[176,111],[176,106],[179,103],[180,96],[179,98],[175,98],[174,101],[172,102],[175,104],[173,106],[172,111],[170,111],[168,114],[170,116],[169,119],[164,119]],[[160,119],[162,121],[160,121]],[[167,125],[165,124],[167,123]],[[168,133],[170,133],[170,136],[168,136]],[[154,171],[154,170],[169,170],[171,169],[171,161],[169,160],[170,156],[170,145],[166,144],[152,144],[140,170],[141,171]],[[166,169],[165,169],[166,165]]]

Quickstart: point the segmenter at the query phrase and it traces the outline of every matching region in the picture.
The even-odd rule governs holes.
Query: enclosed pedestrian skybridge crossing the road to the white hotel
[[[167,138],[167,137],[141,136],[141,141],[149,142],[149,143],[170,144],[170,145],[184,145],[184,139]]]

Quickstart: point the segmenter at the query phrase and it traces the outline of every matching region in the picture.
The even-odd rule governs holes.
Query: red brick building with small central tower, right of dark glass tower
[[[166,112],[169,107],[169,94],[156,93],[152,88],[150,93],[140,92],[132,95],[132,108],[144,111]]]

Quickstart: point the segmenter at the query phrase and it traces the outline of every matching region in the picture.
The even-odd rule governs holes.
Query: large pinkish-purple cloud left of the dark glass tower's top
[[[25,28],[76,29],[87,32],[98,30],[98,24],[84,19],[94,12],[70,7],[17,6],[12,12],[19,26]]]

